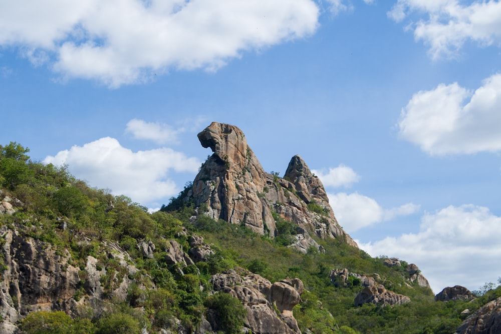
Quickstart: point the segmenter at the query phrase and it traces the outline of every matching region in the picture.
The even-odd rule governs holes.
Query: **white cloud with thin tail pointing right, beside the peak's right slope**
[[[419,205],[407,203],[397,208],[383,209],[375,199],[357,192],[328,193],[329,204],[343,229],[352,233],[360,228],[389,221],[398,216],[406,216],[417,212]]]

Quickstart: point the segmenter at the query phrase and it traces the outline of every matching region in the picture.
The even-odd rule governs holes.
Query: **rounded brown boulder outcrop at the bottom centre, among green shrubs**
[[[272,284],[258,274],[238,269],[213,275],[210,282],[216,291],[230,293],[243,303],[247,310],[245,327],[253,333],[301,333],[292,313],[304,291],[300,279],[283,279]]]

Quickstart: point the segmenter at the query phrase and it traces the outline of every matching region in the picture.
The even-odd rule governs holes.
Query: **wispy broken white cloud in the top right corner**
[[[501,3],[494,0],[462,4],[458,0],[398,0],[388,17],[400,22],[412,13],[425,19],[407,26],[416,40],[429,46],[433,59],[454,58],[467,41],[481,46],[501,43]]]

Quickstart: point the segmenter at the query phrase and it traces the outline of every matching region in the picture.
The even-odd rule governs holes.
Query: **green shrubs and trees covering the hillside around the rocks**
[[[71,264],[80,267],[81,284],[74,298],[85,297],[87,256],[94,256],[98,270],[106,268],[101,278],[109,304],[107,312],[83,318],[71,318],[64,312],[32,312],[19,322],[21,333],[137,333],[142,328],[158,332],[161,328],[176,328],[176,319],[188,331],[211,310],[217,314],[220,329],[238,333],[243,325],[245,309],[229,294],[211,292],[212,274],[243,267],[270,281],[298,277],[305,285],[301,302],[294,315],[303,332],[313,333],[453,333],[467,316],[486,302],[501,296],[498,284],[486,283],[471,302],[435,302],[429,288],[409,283],[405,261],[401,267],[383,265],[385,257],[373,258],[364,251],[347,245],[341,239],[316,241],[325,252],[301,254],[288,247],[296,235],[294,223],[274,213],[275,236],[262,236],[243,225],[199,215],[194,221],[194,204],[186,201],[192,183],[185,185],[176,198],[153,214],[126,196],[114,196],[108,190],[88,187],[69,174],[67,166],[56,167],[33,162],[29,149],[17,143],[0,146],[0,199],[19,199],[16,213],[0,215],[0,223],[16,228],[21,236],[50,243],[61,254],[68,250]],[[278,180],[278,173],[272,173]],[[268,189],[264,189],[268,191]],[[113,208],[110,210],[110,202]],[[315,202],[310,211],[320,215],[328,212]],[[199,208],[205,211],[205,208]],[[65,223],[66,228],[62,227]],[[182,232],[182,233],[181,233]],[[214,251],[206,261],[182,268],[166,261],[169,240],[184,250],[188,238],[196,233]],[[312,233],[313,234],[313,233]],[[90,240],[83,242],[83,240]],[[151,240],[155,245],[153,258],[143,257],[138,242]],[[137,273],[125,302],[112,298],[111,291],[127,277],[124,266],[107,254],[105,242],[119,244],[128,252],[125,260],[136,266]],[[5,243],[0,237],[0,245]],[[0,271],[7,268],[0,258]],[[362,286],[350,276],[348,284],[335,284],[330,270],[347,268],[350,272],[372,276],[391,291],[410,297],[411,302],[399,306],[354,306],[354,298]],[[1,274],[1,273],[0,273]],[[155,285],[155,289],[150,289]],[[14,300],[16,307],[19,300]],[[471,314],[471,313],[469,313]]]

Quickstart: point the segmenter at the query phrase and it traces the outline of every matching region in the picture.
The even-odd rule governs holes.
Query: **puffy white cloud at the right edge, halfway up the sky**
[[[501,150],[501,74],[471,92],[457,83],[420,91],[402,109],[401,138],[429,154]]]

